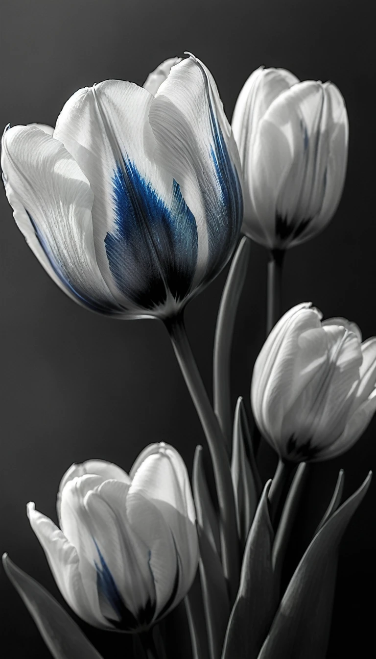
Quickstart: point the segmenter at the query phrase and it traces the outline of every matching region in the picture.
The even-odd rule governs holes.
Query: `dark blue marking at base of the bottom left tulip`
[[[122,599],[115,583],[115,579],[113,578],[95,540],[94,544],[101,563],[99,567],[94,561],[95,569],[97,570],[97,590],[98,593],[109,602],[118,617],[118,619],[107,617],[107,620],[111,625],[117,627],[117,629],[122,629],[122,631],[135,631],[136,629],[148,627],[155,614],[156,602],[151,602],[149,599],[146,606],[138,612],[137,616],[134,616],[134,614],[132,614],[132,612],[125,606],[124,600]]]

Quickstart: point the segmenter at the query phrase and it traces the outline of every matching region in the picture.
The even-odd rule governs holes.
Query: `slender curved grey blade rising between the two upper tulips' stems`
[[[250,259],[251,241],[246,236],[238,244],[228,272],[215,327],[213,354],[213,401],[228,453],[232,444],[232,409],[230,397],[230,357],[236,310],[242,293]]]

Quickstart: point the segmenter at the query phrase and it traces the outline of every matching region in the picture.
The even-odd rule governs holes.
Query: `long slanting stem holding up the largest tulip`
[[[234,491],[232,489],[226,442],[217,416],[215,416],[213,407],[209,401],[205,386],[201,380],[200,372],[186,335],[182,314],[165,320],[165,325],[169,331],[173,349],[186,386],[200,418],[213,463],[213,474],[219,507],[222,565],[228,583],[230,602],[232,603],[238,590],[240,565]]]

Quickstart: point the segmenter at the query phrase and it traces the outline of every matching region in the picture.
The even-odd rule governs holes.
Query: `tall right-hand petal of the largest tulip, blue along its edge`
[[[227,262],[242,219],[237,148],[213,77],[199,60],[171,69],[151,103],[155,158],[180,185],[198,230],[195,283]],[[239,162],[240,164],[240,162]]]

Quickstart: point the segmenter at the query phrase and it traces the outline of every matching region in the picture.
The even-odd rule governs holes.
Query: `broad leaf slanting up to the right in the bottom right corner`
[[[309,544],[286,588],[258,659],[325,659],[340,540],[370,482],[371,473]]]

